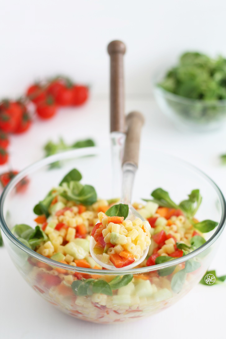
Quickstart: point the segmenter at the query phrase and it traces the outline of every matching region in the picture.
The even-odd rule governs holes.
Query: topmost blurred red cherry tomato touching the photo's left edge
[[[21,117],[23,109],[20,103],[5,100],[0,105],[0,128],[4,132],[15,132]]]

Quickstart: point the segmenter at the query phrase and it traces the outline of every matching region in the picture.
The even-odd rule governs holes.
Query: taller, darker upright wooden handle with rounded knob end
[[[110,55],[110,131],[125,132],[123,55],[126,46],[122,41],[111,41],[107,46]]]

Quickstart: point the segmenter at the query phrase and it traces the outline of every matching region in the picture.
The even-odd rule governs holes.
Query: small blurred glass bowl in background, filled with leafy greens
[[[194,100],[170,93],[158,86],[167,69],[154,79],[154,95],[161,111],[167,115],[179,129],[195,132],[212,131],[220,128],[226,119],[226,100]]]

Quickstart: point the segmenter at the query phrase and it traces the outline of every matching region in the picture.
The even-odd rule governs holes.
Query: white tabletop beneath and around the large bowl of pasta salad
[[[64,136],[67,142],[92,137],[98,145],[109,142],[107,99],[90,99],[78,109],[62,109],[49,121],[36,119],[30,131],[13,136],[9,148],[11,165],[22,169],[43,157],[42,146],[49,139]],[[226,153],[226,126],[211,133],[182,133],[149,98],[127,99],[126,112],[139,109],[146,118],[142,145],[178,156],[206,172],[226,194],[226,166],[219,154]],[[1,166],[0,172],[8,166]],[[210,266],[226,274],[226,232]],[[40,298],[19,275],[6,249],[0,248],[0,338],[224,338],[226,285],[198,285],[187,296],[161,313],[134,323],[100,325],[69,317]]]

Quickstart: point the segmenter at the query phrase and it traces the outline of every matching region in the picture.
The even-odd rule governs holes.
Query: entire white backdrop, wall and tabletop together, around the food
[[[1,2],[0,97],[19,96],[34,79],[59,73],[92,85],[89,102],[62,109],[47,122],[11,139],[11,166],[43,157],[48,139],[93,137],[108,140],[109,60],[106,45],[126,42],[126,112],[139,109],[146,124],[142,145],[150,144],[200,167],[226,194],[226,127],[209,134],[177,131],[151,97],[150,80],[161,61],[187,49],[226,55],[226,3],[220,0],[25,1]],[[101,134],[97,131],[101,130]],[[1,172],[8,165],[1,167]],[[226,234],[210,268],[226,274]],[[38,338],[204,338],[225,336],[225,286],[195,287],[162,313],[131,324],[97,325],[76,321],[42,300],[23,281],[5,248],[0,248],[0,337]]]

